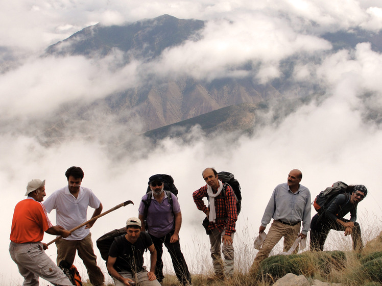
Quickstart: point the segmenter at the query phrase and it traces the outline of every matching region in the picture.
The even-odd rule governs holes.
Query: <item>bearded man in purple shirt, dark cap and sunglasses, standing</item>
[[[164,191],[164,179],[159,174],[149,178],[149,187],[149,193],[140,202],[138,218],[142,222],[142,230],[149,233],[157,251],[155,276],[162,282],[164,243],[173,261],[176,276],[183,285],[188,285],[191,283],[191,276],[179,243],[182,214],[178,199],[170,191]]]

